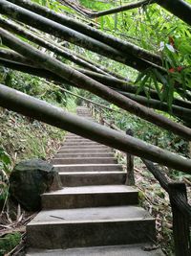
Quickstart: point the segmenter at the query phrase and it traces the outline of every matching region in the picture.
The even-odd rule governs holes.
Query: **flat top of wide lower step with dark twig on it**
[[[77,209],[42,210],[28,224],[65,224],[114,221],[154,221],[150,214],[138,206],[107,206]]]

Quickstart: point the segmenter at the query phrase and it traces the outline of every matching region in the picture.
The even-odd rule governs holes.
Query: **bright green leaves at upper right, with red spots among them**
[[[131,1],[128,1],[131,2]],[[80,3],[94,11],[109,10],[128,4],[127,1],[98,2],[81,0]],[[187,1],[191,3],[191,1]],[[120,74],[132,80],[137,75],[138,93],[145,88],[156,89],[161,102],[166,102],[169,110],[177,93],[182,98],[185,90],[191,88],[191,31],[187,24],[165,11],[159,5],[149,5],[144,8],[119,12],[97,18],[102,31],[106,31],[123,40],[136,43],[138,46],[159,54],[163,61],[165,75],[155,69],[145,70],[137,75],[132,69],[110,62],[110,68],[118,66]],[[120,67],[119,67],[120,66]],[[147,90],[149,98],[149,90]]]

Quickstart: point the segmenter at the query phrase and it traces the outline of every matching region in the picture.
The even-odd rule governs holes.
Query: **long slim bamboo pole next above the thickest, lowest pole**
[[[106,101],[109,101],[119,106],[120,108],[134,113],[161,128],[166,128],[188,140],[191,140],[190,128],[183,127],[182,125],[159,115],[151,109],[143,105],[139,105],[131,99],[127,99],[116,91],[109,89],[107,86],[88,78],[78,71],[75,71],[73,68],[70,68],[57,59],[51,58],[50,56],[41,53],[39,50],[33,48],[30,44],[23,42],[16,36],[11,35],[1,28],[0,35],[5,45],[9,46],[11,49],[14,49],[18,53],[27,56],[29,59],[34,60],[39,65],[39,67],[46,68],[64,80],[70,81],[80,88],[89,90],[97,96],[105,99]]]

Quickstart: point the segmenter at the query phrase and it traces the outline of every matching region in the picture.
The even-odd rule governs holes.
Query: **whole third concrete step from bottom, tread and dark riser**
[[[138,190],[126,185],[64,187],[44,193],[41,198],[43,209],[135,205],[138,204]]]

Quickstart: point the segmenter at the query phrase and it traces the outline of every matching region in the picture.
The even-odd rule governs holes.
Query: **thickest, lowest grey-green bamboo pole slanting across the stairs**
[[[164,151],[117,130],[103,127],[78,117],[57,106],[0,84],[0,105],[12,111],[35,118],[57,128],[63,128],[82,137],[92,139],[119,151],[150,159],[162,165],[191,174],[191,160]]]

